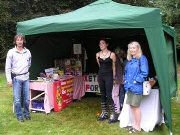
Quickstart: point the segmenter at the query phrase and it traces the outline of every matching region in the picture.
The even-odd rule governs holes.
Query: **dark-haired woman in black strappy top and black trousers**
[[[96,53],[96,60],[99,65],[98,83],[101,92],[101,108],[102,113],[98,117],[99,121],[109,118],[107,104],[109,104],[110,118],[109,123],[117,121],[115,114],[114,102],[112,99],[113,79],[116,77],[115,62],[116,56],[108,50],[108,42],[106,39],[99,41],[100,52]]]

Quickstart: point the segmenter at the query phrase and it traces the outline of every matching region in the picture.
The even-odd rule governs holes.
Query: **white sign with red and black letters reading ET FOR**
[[[99,84],[97,81],[97,74],[84,75],[85,91],[100,93]]]

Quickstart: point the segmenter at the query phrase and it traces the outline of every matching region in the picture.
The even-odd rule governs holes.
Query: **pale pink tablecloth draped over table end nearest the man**
[[[53,104],[53,82],[30,82],[30,90],[44,91],[44,110],[46,113],[50,113],[54,108]]]

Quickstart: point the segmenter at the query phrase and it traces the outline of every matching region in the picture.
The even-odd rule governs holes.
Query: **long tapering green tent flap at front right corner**
[[[172,131],[171,119],[171,96],[169,84],[169,71],[168,57],[166,54],[167,48],[162,28],[145,28],[149,48],[152,53],[153,63],[158,77],[160,86],[160,99],[165,112],[165,119],[167,126]],[[163,61],[163,62],[161,62]]]

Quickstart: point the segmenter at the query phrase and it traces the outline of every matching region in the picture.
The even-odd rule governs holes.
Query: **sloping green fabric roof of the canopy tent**
[[[31,35],[92,29],[159,27],[162,25],[159,13],[157,8],[99,0],[66,14],[18,22],[17,32]]]

